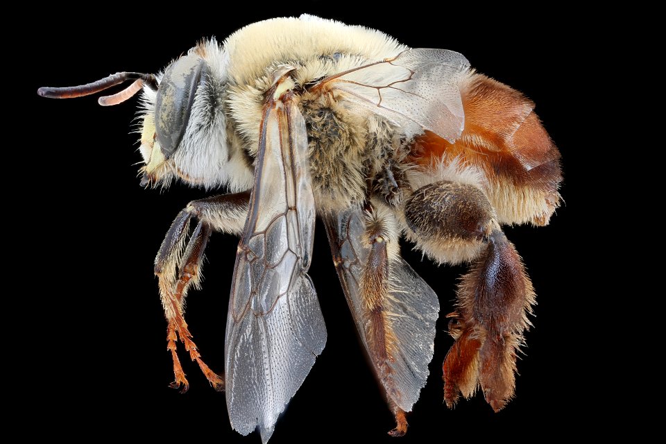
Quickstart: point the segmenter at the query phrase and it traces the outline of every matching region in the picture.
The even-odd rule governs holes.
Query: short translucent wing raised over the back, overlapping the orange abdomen
[[[453,143],[465,126],[459,83],[470,63],[445,49],[408,49],[393,59],[322,80],[321,87],[405,128],[415,123]]]

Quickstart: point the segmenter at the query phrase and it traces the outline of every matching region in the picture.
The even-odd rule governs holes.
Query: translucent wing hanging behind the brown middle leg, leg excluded
[[[364,316],[366,296],[361,291],[370,250],[362,242],[366,230],[364,216],[359,210],[348,210],[325,216],[324,223],[348,305],[361,340],[371,355],[372,326]],[[436,293],[399,254],[388,258],[388,276],[388,294],[382,305],[388,321],[387,334],[393,337],[393,342],[391,357],[386,363],[390,371],[385,380],[379,379],[391,401],[400,409],[411,411],[428,376],[439,301]],[[377,364],[373,362],[373,365],[379,373]]]

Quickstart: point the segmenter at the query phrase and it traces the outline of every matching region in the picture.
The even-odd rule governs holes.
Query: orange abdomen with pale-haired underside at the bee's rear
[[[502,223],[546,225],[559,204],[560,153],[515,89],[481,74],[461,85],[465,129],[454,144],[426,131],[410,160],[430,169],[458,159],[481,172],[488,200]]]

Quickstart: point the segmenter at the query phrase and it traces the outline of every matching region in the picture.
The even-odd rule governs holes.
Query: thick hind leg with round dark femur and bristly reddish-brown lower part
[[[453,407],[481,386],[495,411],[515,387],[515,355],[529,327],[532,284],[515,248],[499,227],[485,194],[472,185],[436,182],[405,204],[407,225],[422,245],[446,255],[474,251],[477,258],[457,292],[449,332],[456,339],[443,365],[444,398]]]

